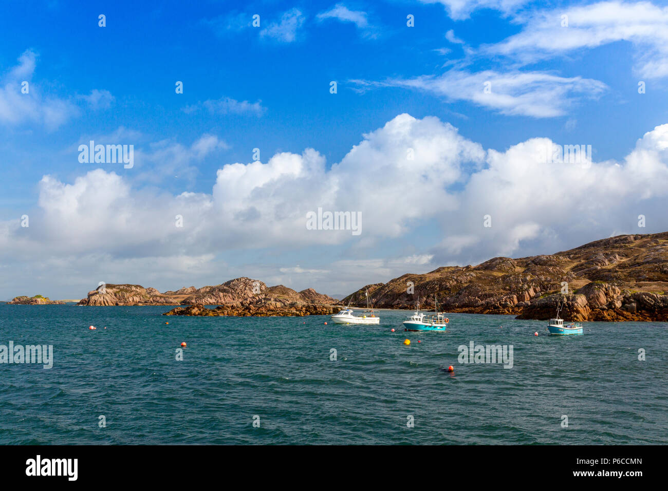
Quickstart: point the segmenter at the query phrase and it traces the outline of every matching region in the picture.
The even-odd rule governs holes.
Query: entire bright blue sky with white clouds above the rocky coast
[[[668,230],[667,2],[2,9],[3,300],[347,295]]]

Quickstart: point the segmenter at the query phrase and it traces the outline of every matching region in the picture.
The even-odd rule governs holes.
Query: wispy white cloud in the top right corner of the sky
[[[568,27],[562,27],[562,15]],[[603,1],[541,10],[515,19],[522,31],[480,52],[506,55],[523,63],[627,41],[636,49],[640,77],[668,76],[668,7],[650,2]]]

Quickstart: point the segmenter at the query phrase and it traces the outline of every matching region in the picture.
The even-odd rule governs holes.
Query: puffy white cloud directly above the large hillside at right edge
[[[554,253],[613,230],[668,230],[660,211],[668,205],[668,124],[645,134],[621,162],[548,164],[550,143],[533,138],[506,152],[488,151],[486,168],[472,174],[459,196],[459,219],[448,221],[437,261],[528,255],[528,244],[534,254]],[[639,214],[651,216],[653,230],[638,228]]]

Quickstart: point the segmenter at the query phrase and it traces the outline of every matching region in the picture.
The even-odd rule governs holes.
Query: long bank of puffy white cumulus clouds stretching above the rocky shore
[[[668,229],[668,124],[647,132],[620,160],[550,161],[546,149],[557,143],[567,142],[532,138],[504,151],[484,150],[438,118],[401,114],[365,134],[331,167],[311,148],[278,153],[267,162],[224,164],[211,192],[174,195],[102,169],[73,182],[44,176],[30,227],[0,222],[0,255],[24,264],[48,251],[49,261],[61,261],[58,267],[67,265],[73,274],[104,257],[121,268],[114,269],[117,276],[156,275],[150,265],[169,265],[174,258],[192,264],[192,275],[207,277],[220,267],[220,255],[234,251],[264,250],[277,257],[280,251],[337,244],[340,250],[366,241],[367,259],[299,261],[297,267],[290,260],[271,271],[236,271],[263,271],[265,279],[311,273],[302,287],[330,285],[326,291],[345,293],[405,272],[496,255],[554,253],[613,233]],[[205,135],[182,148],[197,156],[219,144]],[[319,207],[361,212],[361,235],[309,230],[306,215]],[[639,214],[647,216],[647,229],[637,227]],[[176,226],[177,215],[182,227]],[[484,226],[486,215],[491,227]],[[431,240],[423,240],[426,224]],[[368,251],[397,239],[413,250],[369,257]],[[130,265],[132,271],[124,269]],[[325,273],[349,267],[357,270],[346,279]]]

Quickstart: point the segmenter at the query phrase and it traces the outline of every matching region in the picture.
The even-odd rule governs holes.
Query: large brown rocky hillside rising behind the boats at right
[[[411,285],[412,288],[411,288]],[[495,257],[366,285],[342,303],[569,321],[668,321],[668,232],[620,235],[552,255]],[[409,293],[410,292],[410,293]]]

